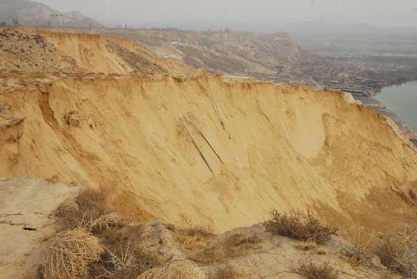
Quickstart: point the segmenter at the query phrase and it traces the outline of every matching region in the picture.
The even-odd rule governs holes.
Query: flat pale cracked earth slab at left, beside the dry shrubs
[[[42,260],[56,232],[54,210],[79,187],[34,178],[0,178],[0,278],[22,278]]]

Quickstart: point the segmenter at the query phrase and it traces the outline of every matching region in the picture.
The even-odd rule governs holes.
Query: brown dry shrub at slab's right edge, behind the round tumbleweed
[[[56,211],[63,229],[86,227],[112,212],[106,189],[81,189],[74,201],[67,201]]]

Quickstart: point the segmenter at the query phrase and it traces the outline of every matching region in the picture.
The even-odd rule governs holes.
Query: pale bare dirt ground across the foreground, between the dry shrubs
[[[33,178],[13,178],[1,180],[0,189],[0,277],[22,278],[24,274],[35,273],[38,265],[43,264],[44,249],[51,244],[58,230],[56,208],[65,199],[76,196],[80,188]],[[176,229],[167,222],[154,220],[145,223],[141,235],[143,247],[158,255],[161,262],[189,262],[186,246],[179,241]],[[223,241],[231,235],[241,238],[256,236],[256,245],[239,250],[229,259],[218,255],[221,262],[196,262],[202,273],[208,275],[227,266],[238,271],[240,278],[304,278],[299,271],[300,264],[329,262],[340,273],[339,278],[384,278],[384,274],[389,274],[377,259],[372,269],[363,265],[354,267],[343,260],[343,249],[350,244],[339,237],[333,237],[326,244],[304,243],[265,232],[265,227],[259,223],[213,235],[210,239],[212,242]],[[193,245],[203,244],[195,242]],[[120,248],[125,249],[124,246]]]

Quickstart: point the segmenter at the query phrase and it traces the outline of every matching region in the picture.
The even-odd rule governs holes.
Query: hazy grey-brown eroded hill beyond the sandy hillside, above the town
[[[314,62],[313,56],[280,32],[256,35],[248,32],[206,32],[179,30],[145,30],[124,28],[91,28],[77,33],[101,33],[129,37],[144,44],[163,58],[174,57],[195,68],[205,67],[212,73],[255,76],[270,80],[279,76],[286,81],[293,65]],[[284,75],[284,76],[283,76]]]

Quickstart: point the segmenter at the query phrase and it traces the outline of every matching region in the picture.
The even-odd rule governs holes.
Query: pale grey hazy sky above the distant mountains
[[[417,0],[38,0],[51,8],[78,10],[99,21],[140,26],[149,22],[300,22],[417,28]]]

